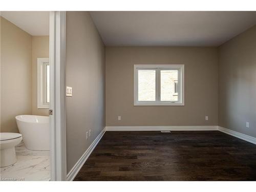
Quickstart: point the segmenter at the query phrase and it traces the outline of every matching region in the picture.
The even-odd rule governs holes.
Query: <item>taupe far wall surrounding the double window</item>
[[[184,64],[185,105],[134,106],[134,64]],[[105,65],[106,126],[218,125],[217,48],[106,47]]]

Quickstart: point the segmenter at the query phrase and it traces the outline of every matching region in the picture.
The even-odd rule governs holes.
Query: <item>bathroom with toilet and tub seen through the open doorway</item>
[[[50,180],[49,12],[7,11],[0,18],[0,177]]]

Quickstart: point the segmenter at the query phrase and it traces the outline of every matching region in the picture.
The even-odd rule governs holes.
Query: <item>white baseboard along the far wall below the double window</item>
[[[217,131],[218,126],[106,126],[106,131]]]

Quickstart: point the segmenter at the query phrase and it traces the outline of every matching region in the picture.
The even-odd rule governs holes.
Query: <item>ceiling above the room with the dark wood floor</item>
[[[106,46],[219,46],[256,25],[256,12],[90,12]]]

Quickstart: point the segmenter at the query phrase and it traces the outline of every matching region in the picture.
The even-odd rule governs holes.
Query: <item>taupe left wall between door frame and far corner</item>
[[[67,172],[105,126],[104,45],[88,12],[67,12]],[[86,132],[92,130],[86,140]]]

